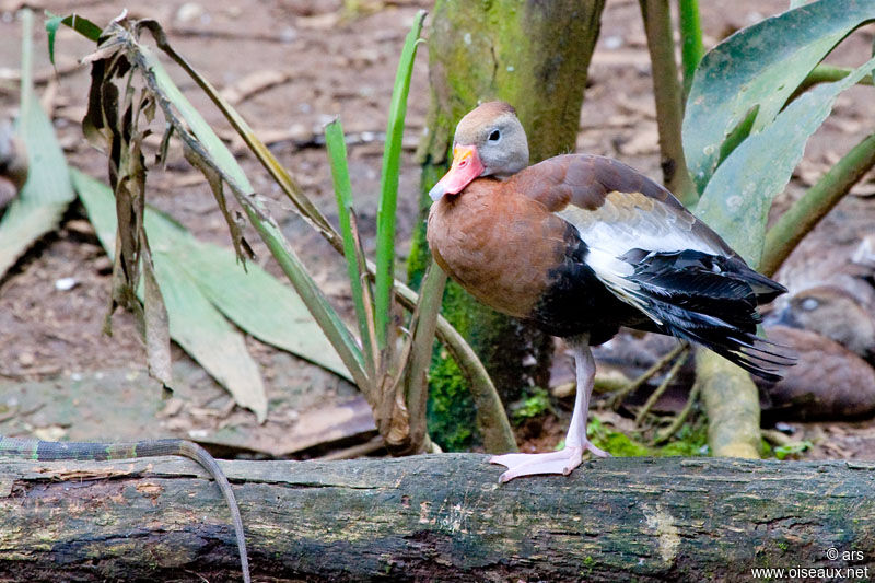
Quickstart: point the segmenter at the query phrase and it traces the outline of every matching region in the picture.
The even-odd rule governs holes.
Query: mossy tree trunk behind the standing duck
[[[427,193],[447,168],[459,118],[478,102],[504,100],[526,128],[532,162],[574,150],[586,69],[604,0],[439,1],[429,35],[431,107],[422,142],[422,214]],[[410,279],[428,265],[424,222],[415,234]],[[505,403],[549,375],[552,340],[447,285],[444,315],[480,355]],[[474,425],[465,381],[446,358],[432,370],[430,432],[443,446],[468,445]]]

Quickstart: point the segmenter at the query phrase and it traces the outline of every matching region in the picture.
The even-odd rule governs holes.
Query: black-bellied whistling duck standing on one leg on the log
[[[430,195],[438,264],[481,302],[574,348],[578,395],[564,448],[493,457],[508,467],[501,481],[570,474],[584,451],[608,455],[586,438],[590,346],[620,326],[699,342],[767,378],[790,363],[756,337],[757,305],[782,285],[620,162],[569,154],[528,166],[525,131],[506,103],[462,118],[452,167]]]

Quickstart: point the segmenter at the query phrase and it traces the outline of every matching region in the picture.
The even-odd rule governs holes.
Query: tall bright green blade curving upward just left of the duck
[[[390,320],[390,301],[395,281],[395,210],[398,201],[398,175],[400,173],[401,138],[407,115],[407,95],[413,72],[419,34],[425,12],[419,11],[413,26],[407,34],[392,92],[389,120],[386,127],[386,145],[383,152],[383,174],[380,180],[380,206],[376,218],[376,284],[374,313],[377,346],[386,347]]]

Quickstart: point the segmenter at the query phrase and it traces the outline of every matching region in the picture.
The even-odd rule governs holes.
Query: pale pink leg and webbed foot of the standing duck
[[[598,457],[608,457],[604,452],[586,439],[586,418],[590,411],[590,396],[593,393],[595,378],[595,360],[590,351],[588,338],[574,343],[574,361],[578,372],[578,396],[574,400],[574,412],[565,436],[565,446],[559,452],[547,454],[504,454],[493,456],[489,463],[508,467],[499,481],[506,482],[521,476],[538,474],[564,474],[581,465],[583,452],[588,451]]]

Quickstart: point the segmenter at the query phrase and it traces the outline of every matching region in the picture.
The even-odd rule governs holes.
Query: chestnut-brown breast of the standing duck
[[[485,304],[530,315],[562,261],[564,221],[491,178],[432,205],[428,240],[438,264]]]

